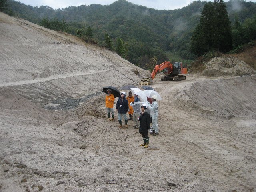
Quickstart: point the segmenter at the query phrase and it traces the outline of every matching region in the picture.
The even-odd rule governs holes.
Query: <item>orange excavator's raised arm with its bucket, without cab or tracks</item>
[[[152,71],[150,78],[142,78],[140,81],[141,85],[149,85],[153,83],[153,79],[155,78],[156,74],[158,74],[160,71],[166,69],[164,72],[165,74],[171,74],[173,70],[173,66],[169,61],[165,61],[161,63],[160,65],[156,65],[154,70]]]

